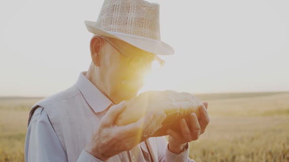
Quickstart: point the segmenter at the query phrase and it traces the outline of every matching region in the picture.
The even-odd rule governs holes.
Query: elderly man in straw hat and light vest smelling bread
[[[144,0],[104,0],[96,22],[85,21],[94,33],[92,62],[72,87],[32,106],[25,140],[26,162],[173,162],[188,158],[188,142],[197,140],[209,123],[207,102],[181,132],[162,127],[166,114],[147,113],[137,122],[115,125],[126,101],[137,96],[157,55],[173,54],[160,40],[159,5]],[[190,123],[187,123],[190,122]],[[188,126],[190,125],[190,126]]]

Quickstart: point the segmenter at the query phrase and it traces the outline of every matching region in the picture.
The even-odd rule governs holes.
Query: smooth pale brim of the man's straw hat
[[[96,35],[104,36],[104,37],[111,37],[111,38],[115,38],[121,41],[125,41],[137,48],[140,48],[144,51],[147,51],[156,55],[174,54],[173,48],[169,46],[169,44],[163,41],[160,41],[160,42],[149,41],[149,40],[144,40],[144,39],[140,39],[137,37],[118,35],[109,31],[104,31],[102,29],[95,27],[96,22],[94,21],[84,21],[84,23],[86,25],[87,30]]]

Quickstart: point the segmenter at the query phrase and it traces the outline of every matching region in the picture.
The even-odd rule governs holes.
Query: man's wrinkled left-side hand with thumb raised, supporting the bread
[[[92,140],[84,148],[88,153],[105,161],[122,151],[131,150],[160,129],[167,117],[163,112],[147,113],[137,122],[125,126],[115,125],[116,118],[125,108],[126,102],[122,101],[108,110]]]

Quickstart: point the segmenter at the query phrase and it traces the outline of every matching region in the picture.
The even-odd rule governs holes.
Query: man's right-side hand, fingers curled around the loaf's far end
[[[188,142],[197,140],[199,136],[205,132],[205,129],[210,122],[207,108],[208,102],[203,102],[199,108],[199,119],[195,113],[190,114],[189,121],[181,119],[181,133],[177,133],[171,129],[167,130],[169,135],[169,150],[172,153],[181,153],[181,151],[187,146]],[[187,122],[191,123],[187,124]]]

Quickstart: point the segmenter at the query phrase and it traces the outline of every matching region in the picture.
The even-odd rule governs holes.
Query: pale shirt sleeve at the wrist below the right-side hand
[[[195,162],[189,158],[189,148],[180,154],[174,154],[169,151],[169,145],[165,136],[157,138],[158,159],[160,162]]]

